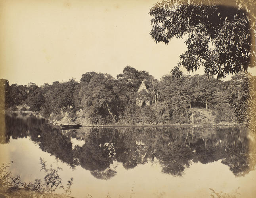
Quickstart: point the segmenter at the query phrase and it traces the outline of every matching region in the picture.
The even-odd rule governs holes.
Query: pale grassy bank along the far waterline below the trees
[[[23,109],[26,111],[22,111]],[[15,111],[8,113],[27,113],[27,114],[40,114],[39,112],[28,111],[29,107],[19,106]],[[84,127],[207,127],[207,126],[236,126],[239,125],[237,120],[227,119],[224,115],[217,114],[214,109],[205,108],[191,108],[186,109],[185,116],[180,116],[176,120],[169,118],[164,122],[154,122],[151,120],[138,119],[134,123],[129,123],[124,120],[123,122],[109,122],[109,123],[92,123],[91,118],[86,117],[86,111],[76,111],[73,114],[61,112],[59,114],[50,114],[47,118],[49,122],[57,125],[80,124]]]

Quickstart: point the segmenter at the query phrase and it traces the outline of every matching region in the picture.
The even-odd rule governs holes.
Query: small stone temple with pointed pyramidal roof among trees
[[[142,80],[137,91],[136,105],[139,107],[150,105],[149,90],[147,89],[144,80]]]

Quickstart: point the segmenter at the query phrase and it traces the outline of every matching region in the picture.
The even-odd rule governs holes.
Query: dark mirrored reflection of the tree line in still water
[[[233,128],[80,128],[61,131],[33,115],[6,115],[6,136],[0,143],[30,137],[39,147],[72,168],[80,165],[94,177],[110,179],[117,173],[114,162],[132,169],[147,162],[159,163],[162,172],[182,176],[192,162],[207,164],[222,160],[235,176],[255,168],[253,134]],[[83,140],[72,147],[71,137]]]

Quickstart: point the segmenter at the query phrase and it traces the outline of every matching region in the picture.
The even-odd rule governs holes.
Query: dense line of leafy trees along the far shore
[[[138,93],[142,81],[147,91]],[[40,87],[34,83],[10,86],[2,79],[1,85],[5,87],[6,109],[27,104],[46,117],[66,113],[73,118],[76,111],[82,111],[82,117],[91,124],[191,124],[201,121],[200,109],[210,112],[215,122],[255,120],[254,82],[255,77],[245,73],[235,74],[229,81],[182,73],[180,78],[170,74],[157,80],[146,71],[127,66],[117,79],[86,72],[80,83],[71,79]],[[150,105],[140,107],[136,99]]]

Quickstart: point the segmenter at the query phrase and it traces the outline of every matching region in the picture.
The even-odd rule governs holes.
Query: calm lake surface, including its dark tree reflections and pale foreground
[[[21,181],[44,180],[40,158],[60,166],[71,196],[210,197],[214,189],[256,195],[256,137],[245,128],[61,130],[32,115],[5,116],[0,162]],[[61,190],[58,192],[62,192]]]

